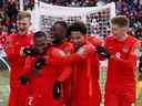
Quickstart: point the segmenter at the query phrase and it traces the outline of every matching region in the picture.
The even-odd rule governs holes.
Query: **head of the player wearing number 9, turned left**
[[[123,38],[129,30],[129,19],[124,15],[116,15],[111,20],[112,33],[115,39]]]

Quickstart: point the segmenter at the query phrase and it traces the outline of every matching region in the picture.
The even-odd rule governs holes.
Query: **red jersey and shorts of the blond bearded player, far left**
[[[18,77],[23,70],[24,64],[24,57],[20,56],[20,50],[23,46],[29,46],[31,39],[29,34],[12,34],[9,36],[8,42],[9,45],[7,46],[6,52],[11,66],[9,106],[24,106],[27,87],[21,86],[18,82]]]

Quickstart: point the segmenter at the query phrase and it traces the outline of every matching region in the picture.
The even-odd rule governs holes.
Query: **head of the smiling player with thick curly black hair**
[[[85,43],[87,26],[83,22],[74,22],[68,29],[68,35],[75,49]]]

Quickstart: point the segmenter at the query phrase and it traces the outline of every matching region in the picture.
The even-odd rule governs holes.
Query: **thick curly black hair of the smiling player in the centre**
[[[67,34],[70,36],[72,31],[80,31],[82,34],[87,34],[87,26],[83,22],[74,22],[71,25],[69,25]]]

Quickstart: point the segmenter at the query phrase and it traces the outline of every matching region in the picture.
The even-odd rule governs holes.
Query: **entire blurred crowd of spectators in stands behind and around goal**
[[[33,9],[34,0],[23,0],[24,10]],[[130,34],[141,31],[142,0],[40,0],[50,4],[64,7],[95,7],[115,2],[116,14],[125,14],[130,19]],[[17,31],[16,17],[19,11],[19,0],[0,0],[0,33]]]

